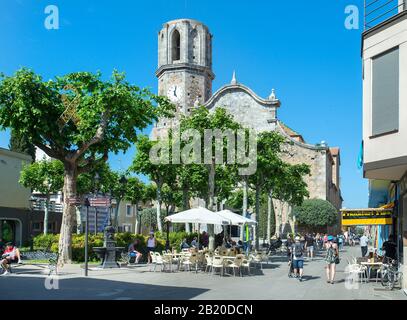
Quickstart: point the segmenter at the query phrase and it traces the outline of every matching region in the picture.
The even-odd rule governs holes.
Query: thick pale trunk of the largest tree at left
[[[78,177],[77,166],[65,163],[64,170],[64,209],[59,236],[58,263],[72,263],[72,227],[75,219],[75,206],[69,204],[69,198],[76,196],[76,179]]]

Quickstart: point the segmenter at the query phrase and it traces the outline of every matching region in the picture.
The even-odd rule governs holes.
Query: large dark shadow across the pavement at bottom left
[[[53,278],[10,276],[1,279],[2,285],[12,288],[1,295],[2,300],[187,300],[208,289],[129,283],[93,278]],[[56,284],[58,286],[56,287]]]

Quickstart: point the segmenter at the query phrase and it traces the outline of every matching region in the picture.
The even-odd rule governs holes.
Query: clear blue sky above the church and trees
[[[59,30],[44,27],[47,5],[59,8]],[[347,5],[362,13],[362,0],[0,0],[0,72],[26,66],[44,79],[97,70],[107,77],[116,68],[156,92],[157,32],[168,20],[200,20],[214,35],[214,90],[233,70],[262,97],[275,88],[283,122],[309,143],[341,148],[344,206],[365,207],[367,181],[356,166],[362,31],[344,27]],[[0,132],[1,147],[8,139]],[[134,152],[111,156],[112,167],[126,169]]]

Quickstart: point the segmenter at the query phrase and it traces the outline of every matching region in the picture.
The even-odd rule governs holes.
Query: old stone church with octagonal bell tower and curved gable
[[[172,119],[160,119],[152,131],[159,137],[176,125],[180,114],[190,114],[193,108],[205,106],[209,110],[226,108],[234,119],[257,132],[276,130],[292,144],[287,145],[285,161],[306,163],[311,175],[306,178],[310,198],[330,201],[337,209],[342,207],[340,191],[340,152],[324,142],[306,143],[301,134],[290,129],[277,116],[281,106],[274,89],[269,97],[259,97],[253,90],[239,83],[233,73],[232,80],[215,93],[212,81],[212,35],[207,26],[191,19],[165,23],[158,33],[158,94],[167,96],[177,107]],[[293,228],[290,206],[274,201],[277,233]]]

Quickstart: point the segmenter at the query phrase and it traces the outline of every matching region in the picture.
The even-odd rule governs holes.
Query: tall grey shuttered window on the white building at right
[[[372,135],[399,129],[399,48],[372,59]]]

